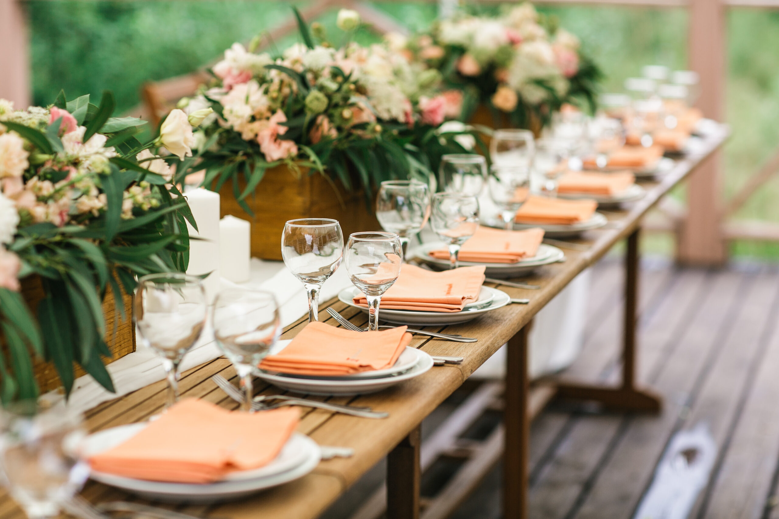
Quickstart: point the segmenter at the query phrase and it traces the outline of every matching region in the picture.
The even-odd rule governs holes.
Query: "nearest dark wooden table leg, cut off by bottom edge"
[[[387,455],[387,519],[419,519],[419,447],[417,426]]]

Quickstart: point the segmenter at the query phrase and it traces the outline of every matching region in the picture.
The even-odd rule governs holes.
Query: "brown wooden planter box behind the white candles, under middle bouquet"
[[[362,191],[347,193],[340,181],[331,184],[318,172],[308,173],[301,168],[298,178],[286,166],[267,170],[254,195],[245,199],[254,218],[238,205],[231,183],[224,184],[219,192],[220,216],[232,215],[252,223],[253,257],[282,259],[281,234],[287,220],[337,219],[344,233],[344,243],[351,233],[381,229],[372,204],[366,204]],[[240,181],[239,185],[243,191],[245,182]]]

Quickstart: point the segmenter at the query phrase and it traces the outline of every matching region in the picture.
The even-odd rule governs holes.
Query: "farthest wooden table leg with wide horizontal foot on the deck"
[[[636,228],[627,239],[625,253],[625,315],[622,336],[622,385],[597,387],[585,384],[561,383],[557,396],[574,400],[600,402],[611,409],[660,412],[662,398],[636,387],[636,322],[638,320],[639,237]]]

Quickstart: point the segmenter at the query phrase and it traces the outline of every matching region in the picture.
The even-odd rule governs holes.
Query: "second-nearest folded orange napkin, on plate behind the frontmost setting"
[[[406,326],[382,331],[352,331],[314,321],[259,367],[268,371],[333,377],[393,366],[411,342]]]

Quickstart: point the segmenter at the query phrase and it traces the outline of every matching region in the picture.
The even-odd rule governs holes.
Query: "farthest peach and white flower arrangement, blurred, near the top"
[[[465,119],[481,103],[495,119],[506,114],[513,125],[538,130],[564,103],[595,108],[600,70],[576,36],[529,3],[496,17],[460,13],[435,23],[428,33],[390,34],[387,41],[462,89]]]

